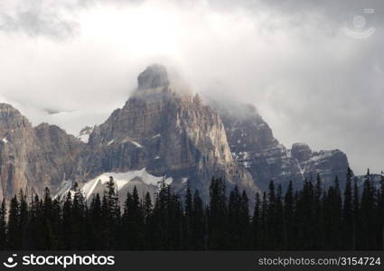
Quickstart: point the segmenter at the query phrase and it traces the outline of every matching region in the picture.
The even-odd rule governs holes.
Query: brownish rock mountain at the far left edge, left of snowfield
[[[0,197],[14,193],[42,194],[45,187],[55,192],[73,165],[83,145],[58,126],[33,128],[14,107],[0,104]]]

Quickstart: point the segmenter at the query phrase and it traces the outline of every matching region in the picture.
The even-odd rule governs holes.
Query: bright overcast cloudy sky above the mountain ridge
[[[76,135],[122,107],[145,66],[163,63],[196,91],[256,105],[286,146],[339,148],[355,173],[379,173],[383,8],[380,0],[2,0],[0,102],[33,125]]]

